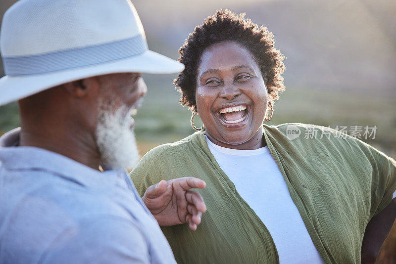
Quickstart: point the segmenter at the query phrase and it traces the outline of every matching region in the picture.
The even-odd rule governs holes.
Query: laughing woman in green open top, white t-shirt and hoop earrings
[[[180,49],[175,84],[204,129],[152,149],[131,173],[141,195],[161,179],[206,182],[198,229],[162,227],[179,263],[360,263],[395,220],[393,159],[323,127],[262,125],[285,89],[272,37],[222,10]],[[366,227],[381,241],[374,249],[362,249]]]

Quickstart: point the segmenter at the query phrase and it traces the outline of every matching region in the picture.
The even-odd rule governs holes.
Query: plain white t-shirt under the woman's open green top
[[[220,147],[207,137],[206,141],[220,168],[268,228],[280,264],[322,264],[268,147],[239,150]]]

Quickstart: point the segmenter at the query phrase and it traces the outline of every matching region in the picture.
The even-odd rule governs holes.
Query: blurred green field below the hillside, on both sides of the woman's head
[[[178,103],[172,86],[175,76],[146,75],[148,93],[136,116],[135,132],[141,154],[161,143],[174,142],[194,132],[190,111]],[[331,91],[287,86],[275,102],[268,124],[290,122],[322,126],[377,126],[375,139],[364,140],[396,158],[396,95]],[[196,118],[198,126],[199,118]]]

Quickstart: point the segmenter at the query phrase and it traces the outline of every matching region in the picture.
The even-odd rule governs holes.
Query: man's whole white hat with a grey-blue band
[[[0,51],[0,105],[87,77],[184,68],[148,50],[130,0],[20,0],[3,16]]]

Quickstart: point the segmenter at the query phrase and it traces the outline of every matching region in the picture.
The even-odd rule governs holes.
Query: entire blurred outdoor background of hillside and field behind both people
[[[0,12],[14,1],[1,0]],[[271,124],[303,122],[378,127],[365,140],[396,158],[396,1],[135,0],[150,49],[177,58],[194,26],[221,8],[263,24],[285,55],[286,92]],[[0,67],[1,70],[1,67]],[[142,152],[192,132],[177,102],[176,75],[146,75],[148,95],[136,117]],[[16,104],[0,107],[0,133],[18,126]]]

